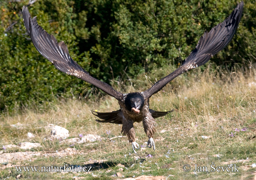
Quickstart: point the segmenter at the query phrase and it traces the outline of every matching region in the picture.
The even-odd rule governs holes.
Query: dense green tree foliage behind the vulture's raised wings
[[[0,2],[0,110],[52,95],[84,96],[91,85],[56,70],[41,56],[23,25],[28,0]],[[185,59],[205,30],[222,22],[235,0],[38,0],[32,16],[95,78],[109,82]],[[211,60],[234,67],[256,61],[256,1],[245,0],[231,43]]]

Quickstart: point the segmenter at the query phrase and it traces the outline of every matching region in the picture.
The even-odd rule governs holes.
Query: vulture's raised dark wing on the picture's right
[[[145,90],[143,92],[145,97],[151,97],[178,75],[207,63],[213,55],[224,49],[236,32],[236,28],[242,16],[243,6],[244,2],[242,1],[227,19],[212,28],[210,32],[204,32],[204,35],[199,39],[196,48],[185,59],[182,66],[173,73],[157,81],[148,90]]]

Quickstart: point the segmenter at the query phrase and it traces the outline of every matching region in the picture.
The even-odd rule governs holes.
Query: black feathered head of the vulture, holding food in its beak
[[[126,108],[137,114],[140,113],[144,102],[144,97],[140,93],[129,93],[125,98]]]

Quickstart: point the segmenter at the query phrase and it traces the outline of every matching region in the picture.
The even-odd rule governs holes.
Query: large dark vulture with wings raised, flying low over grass
[[[63,41],[57,42],[53,35],[49,35],[41,26],[38,25],[36,17],[31,17],[27,7],[23,6],[23,20],[28,31],[29,36],[38,50],[38,52],[47,58],[60,71],[68,75],[76,76],[84,81],[93,84],[110,96],[113,96],[119,103],[120,109],[108,112],[99,113],[92,111],[92,113],[102,120],[98,122],[109,122],[114,124],[122,124],[123,135],[128,137],[129,142],[135,154],[135,149],[139,149],[139,144],[135,142],[134,122],[142,122],[143,128],[148,136],[148,147],[155,150],[154,132],[155,132],[155,118],[165,116],[172,112],[159,112],[149,109],[150,97],[160,91],[166,84],[178,75],[185,73],[199,67],[215,55],[217,52],[224,49],[233,38],[238,24],[242,16],[244,3],[241,1],[236,9],[225,19],[222,23],[213,27],[209,32],[204,32],[204,35],[198,41],[195,49],[183,61],[183,64],[174,72],[157,81],[151,88],[141,93],[120,93],[113,89],[109,84],[93,78],[87,71],[80,67],[74,61],[68,52],[67,46]]]

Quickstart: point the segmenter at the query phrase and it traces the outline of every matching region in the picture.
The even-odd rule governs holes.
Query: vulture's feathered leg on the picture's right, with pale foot
[[[155,132],[155,126],[154,126],[155,120],[154,118],[151,117],[146,117],[145,119],[143,119],[143,127],[144,127],[144,131],[148,136],[148,148],[151,148],[153,146],[153,149],[155,150],[156,147],[154,145],[154,132]]]

